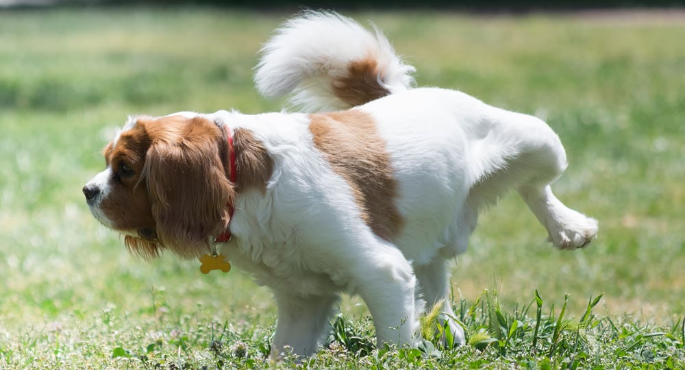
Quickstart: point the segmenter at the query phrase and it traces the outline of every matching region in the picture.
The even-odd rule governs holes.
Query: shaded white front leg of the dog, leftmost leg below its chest
[[[312,355],[327,328],[338,296],[297,297],[276,292],[275,297],[278,321],[271,345],[271,358],[277,360],[288,353]]]

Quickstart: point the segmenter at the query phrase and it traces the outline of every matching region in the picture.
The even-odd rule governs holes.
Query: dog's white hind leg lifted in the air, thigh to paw
[[[566,153],[547,123],[534,116],[496,110],[490,130],[474,141],[484,158],[477,171],[471,203],[493,203],[514,187],[559,249],[581,248],[597,235],[597,220],[566,207],[549,186],[566,169]]]

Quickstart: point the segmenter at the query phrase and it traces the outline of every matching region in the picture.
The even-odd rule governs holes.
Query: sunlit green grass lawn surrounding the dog
[[[269,291],[240,271],[128,256],[80,189],[126,114],[279,110],[258,97],[251,68],[283,16],[0,12],[0,368],[271,366]],[[419,84],[546,119],[571,163],[556,193],[601,231],[588,249],[553,250],[508,196],[453,269],[468,345],[443,349],[434,336],[419,349],[376,349],[368,311],[349,297],[329,349],[301,366],[684,367],[683,21],[354,16],[386,30]]]

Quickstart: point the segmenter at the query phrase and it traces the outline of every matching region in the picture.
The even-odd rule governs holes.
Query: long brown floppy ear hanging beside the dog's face
[[[234,190],[211,138],[158,140],[147,151],[147,187],[157,236],[182,258],[210,251],[210,237],[229,222]]]

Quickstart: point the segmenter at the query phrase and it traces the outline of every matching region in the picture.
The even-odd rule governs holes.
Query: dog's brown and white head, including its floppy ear
[[[208,251],[229,222],[226,134],[184,115],[130,118],[105,147],[106,169],[84,186],[90,212],[144,258]]]

